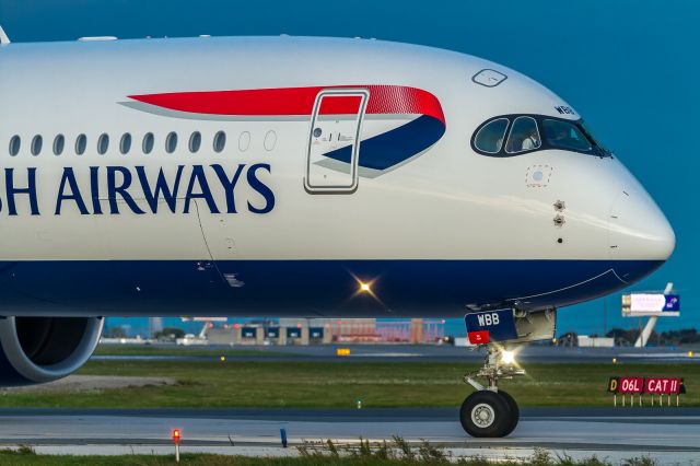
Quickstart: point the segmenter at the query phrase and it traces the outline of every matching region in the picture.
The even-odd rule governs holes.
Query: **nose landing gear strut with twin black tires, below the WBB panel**
[[[517,427],[517,404],[511,395],[498,388],[498,381],[524,375],[525,371],[512,362],[503,363],[504,351],[503,348],[489,343],[483,366],[464,376],[464,381],[477,389],[464,400],[459,409],[462,427],[471,436],[505,436]],[[481,385],[475,377],[486,377],[488,386]]]

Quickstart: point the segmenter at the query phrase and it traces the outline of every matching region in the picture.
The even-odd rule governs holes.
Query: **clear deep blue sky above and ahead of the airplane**
[[[0,0],[0,24],[15,42],[91,35],[376,37],[512,67],[571,103],[656,199],[676,231],[676,252],[633,289],[674,281],[682,316],[660,327],[700,327],[700,2]],[[620,317],[619,295],[607,303],[608,328],[637,326]],[[602,331],[603,301],[564,308],[559,329]]]

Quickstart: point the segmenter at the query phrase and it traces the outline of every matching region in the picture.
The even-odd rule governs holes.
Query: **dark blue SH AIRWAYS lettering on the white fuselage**
[[[167,174],[162,167],[158,173],[144,166],[89,168],[89,173],[79,176],[72,167],[63,167],[56,184],[52,206],[56,215],[68,209],[83,215],[119,214],[125,209],[137,214],[158,213],[162,209],[189,213],[196,199],[201,199],[211,213],[238,213],[241,209],[268,213],[275,208],[275,194],[260,178],[265,172],[271,173],[266,163],[237,164],[228,170],[219,164],[177,165]],[[36,167],[4,168],[0,211],[7,210],[10,215],[25,212],[39,215],[38,189],[50,185],[39,183],[38,176]],[[236,193],[242,190],[248,196],[237,205]]]

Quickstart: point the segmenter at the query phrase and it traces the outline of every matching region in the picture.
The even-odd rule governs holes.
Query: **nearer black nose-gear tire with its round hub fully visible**
[[[511,409],[505,397],[488,389],[475,392],[459,409],[459,421],[471,436],[504,436],[511,427]]]

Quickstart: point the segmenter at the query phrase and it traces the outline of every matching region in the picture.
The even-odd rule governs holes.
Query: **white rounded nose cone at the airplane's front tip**
[[[676,235],[668,220],[641,187],[620,189],[611,208],[608,231],[611,258],[649,261],[650,266],[655,264],[653,269],[668,259],[676,247]]]

